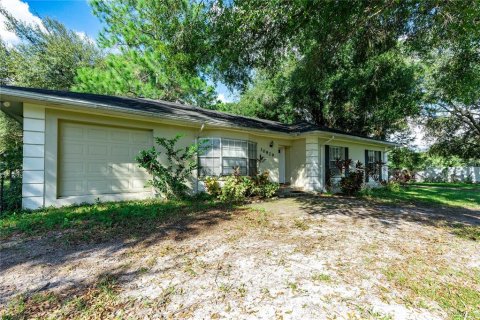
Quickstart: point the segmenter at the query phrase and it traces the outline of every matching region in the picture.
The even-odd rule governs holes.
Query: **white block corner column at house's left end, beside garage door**
[[[45,108],[23,105],[22,207],[38,209],[45,196]]]

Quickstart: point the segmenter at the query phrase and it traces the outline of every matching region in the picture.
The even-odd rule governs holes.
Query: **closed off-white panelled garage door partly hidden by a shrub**
[[[150,191],[135,157],[151,148],[152,136],[147,130],[61,122],[59,197]]]

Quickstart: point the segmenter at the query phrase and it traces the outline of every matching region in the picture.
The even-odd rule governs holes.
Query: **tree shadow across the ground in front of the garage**
[[[150,209],[148,206],[145,207],[145,210]],[[29,268],[35,266],[47,265],[60,268],[65,263],[75,262],[92,255],[101,263],[108,264],[109,257],[117,256],[118,258],[119,252],[128,251],[129,248],[148,250],[150,246],[163,240],[181,242],[197,237],[199,234],[208,233],[222,223],[230,221],[233,215],[240,215],[246,210],[227,206],[202,209],[186,207],[167,219],[150,218],[142,221],[141,218],[129,216],[126,221],[116,219],[114,220],[116,222],[111,225],[101,225],[101,227],[93,224],[91,228],[56,230],[27,238],[14,236],[0,243],[0,277],[12,272],[16,266],[21,266],[24,272],[28,272]],[[52,290],[66,285],[72,288],[88,285],[65,283],[61,280],[38,280],[38,283],[29,291]],[[15,288],[0,284],[0,302],[11,297],[12,291],[15,291]]]

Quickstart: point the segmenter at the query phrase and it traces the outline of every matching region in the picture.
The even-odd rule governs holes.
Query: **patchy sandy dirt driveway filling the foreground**
[[[0,247],[18,318],[480,319],[480,212],[299,197],[94,244]]]

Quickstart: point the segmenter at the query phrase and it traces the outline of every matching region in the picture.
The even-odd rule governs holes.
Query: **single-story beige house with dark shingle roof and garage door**
[[[193,192],[203,190],[204,175],[225,175],[233,166],[251,174],[260,156],[259,170],[273,181],[323,191],[336,159],[386,162],[395,146],[309,123],[285,125],[149,99],[1,86],[0,103],[23,123],[28,209],[154,196],[135,156],[157,136],[182,134],[183,146],[207,139]],[[387,167],[382,170],[386,177]]]

